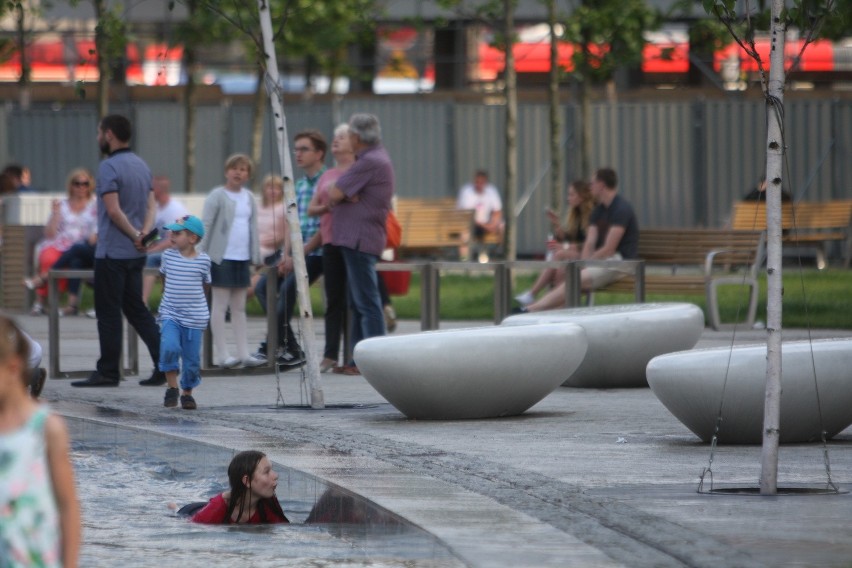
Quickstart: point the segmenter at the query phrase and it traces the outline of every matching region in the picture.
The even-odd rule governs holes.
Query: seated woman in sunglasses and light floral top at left
[[[68,197],[54,200],[50,218],[44,227],[44,240],[38,245],[38,273],[24,279],[24,286],[36,291],[36,301],[30,314],[44,313],[47,300],[47,272],[64,255],[57,268],[88,268],[85,259],[94,262],[94,242],[97,234],[97,203],[93,199],[94,178],[88,170],[77,168],[68,175]],[[75,246],[78,245],[78,246]],[[73,251],[72,251],[73,249]],[[70,257],[70,258],[69,258]],[[78,261],[79,260],[79,261]],[[68,306],[61,315],[76,315],[80,281],[67,283]],[[59,283],[65,291],[66,282]]]

